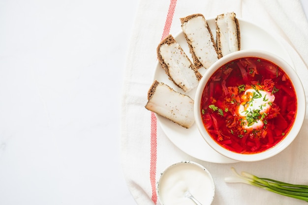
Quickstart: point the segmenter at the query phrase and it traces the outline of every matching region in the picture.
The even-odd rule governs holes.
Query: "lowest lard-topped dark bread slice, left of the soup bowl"
[[[193,103],[194,101],[188,95],[179,93],[164,83],[154,81],[148,92],[148,103],[145,107],[185,128],[189,128],[195,122]]]

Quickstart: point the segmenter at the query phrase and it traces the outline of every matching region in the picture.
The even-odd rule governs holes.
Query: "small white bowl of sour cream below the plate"
[[[189,191],[202,205],[211,205],[215,195],[213,177],[198,163],[183,161],[169,166],[159,178],[156,186],[161,205],[193,205],[185,197]]]

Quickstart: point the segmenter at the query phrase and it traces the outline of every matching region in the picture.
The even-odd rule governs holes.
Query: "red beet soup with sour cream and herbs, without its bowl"
[[[255,57],[232,60],[209,79],[201,116],[209,135],[243,154],[267,150],[290,131],[297,96],[288,75],[275,63]]]

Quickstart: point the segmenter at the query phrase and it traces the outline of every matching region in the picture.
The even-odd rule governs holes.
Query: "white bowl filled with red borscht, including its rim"
[[[202,137],[238,161],[263,160],[289,146],[305,112],[304,88],[293,67],[258,50],[217,60],[200,80],[194,101]]]

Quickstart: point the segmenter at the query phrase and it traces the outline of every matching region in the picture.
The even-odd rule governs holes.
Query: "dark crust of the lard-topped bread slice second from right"
[[[211,34],[211,40],[212,40],[212,43],[214,44],[214,48],[215,48],[216,53],[217,53],[217,55],[218,55],[215,39],[214,39],[214,37],[213,37],[212,31],[211,31],[211,29],[210,29],[210,26],[209,26],[208,22],[206,21],[205,17],[203,16],[203,14],[200,14],[200,13],[191,14],[191,15],[189,15],[189,16],[180,18],[181,24],[182,24],[181,27],[183,27],[183,25],[184,25],[185,23],[187,23],[189,20],[191,20],[191,19],[193,19],[193,18],[196,18],[196,17],[199,17],[199,16],[201,16],[201,17],[204,19],[204,21],[206,22],[206,27],[207,27],[207,29],[209,30],[210,34]],[[184,32],[183,32],[183,33],[184,33]],[[187,37],[187,35],[186,35],[185,33],[184,33],[184,35],[185,35],[185,39],[186,39],[186,41],[187,41],[187,43],[188,43],[189,52],[190,52],[191,57],[192,57],[192,59],[193,59],[193,63],[194,63],[194,65],[196,66],[196,68],[198,69],[198,68],[202,67],[203,65],[202,65],[202,63],[199,61],[199,59],[196,57],[195,52],[194,52],[194,50],[193,50],[193,47],[192,47],[192,45],[191,45],[191,41],[188,39],[188,37]]]

